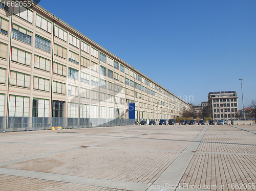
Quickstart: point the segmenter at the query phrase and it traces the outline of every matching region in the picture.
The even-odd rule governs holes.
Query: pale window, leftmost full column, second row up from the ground
[[[11,70],[10,85],[30,88],[30,75]]]

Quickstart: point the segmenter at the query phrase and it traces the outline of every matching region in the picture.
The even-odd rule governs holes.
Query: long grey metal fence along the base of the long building
[[[68,118],[68,117],[0,117],[0,132],[112,127],[133,125],[135,119]]]

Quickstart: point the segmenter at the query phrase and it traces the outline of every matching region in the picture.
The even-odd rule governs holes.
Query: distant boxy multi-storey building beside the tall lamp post
[[[236,91],[208,93],[209,114],[215,120],[238,118],[238,96]]]

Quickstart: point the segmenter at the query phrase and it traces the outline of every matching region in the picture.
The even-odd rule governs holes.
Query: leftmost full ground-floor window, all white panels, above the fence
[[[29,116],[29,98],[21,96],[9,97],[9,116],[10,117],[28,117]]]

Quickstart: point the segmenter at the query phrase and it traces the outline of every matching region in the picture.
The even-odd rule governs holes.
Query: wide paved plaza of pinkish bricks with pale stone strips
[[[256,125],[0,133],[0,190],[256,190]]]

